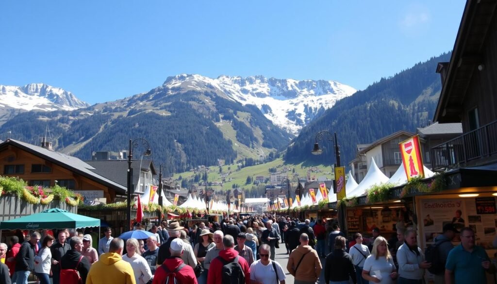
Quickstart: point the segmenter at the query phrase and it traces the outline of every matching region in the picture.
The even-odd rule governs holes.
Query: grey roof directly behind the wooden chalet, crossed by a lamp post
[[[99,174],[111,181],[114,181],[124,187],[128,187],[128,161],[127,160],[91,160],[84,161],[86,164],[92,166],[94,173]],[[133,168],[133,183],[138,184],[140,179],[140,160],[132,160],[131,167]],[[141,161],[142,169],[152,171],[155,175],[156,171],[154,168],[154,163],[151,160]]]

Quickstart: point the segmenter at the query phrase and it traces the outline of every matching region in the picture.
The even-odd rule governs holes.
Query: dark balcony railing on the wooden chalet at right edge
[[[497,120],[431,148],[433,170],[476,165],[497,154]]]

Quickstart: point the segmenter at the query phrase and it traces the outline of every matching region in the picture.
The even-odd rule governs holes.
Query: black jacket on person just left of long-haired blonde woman
[[[334,250],[326,257],[325,281],[348,281],[352,278],[354,284],[357,283],[354,263],[350,255],[343,250]]]

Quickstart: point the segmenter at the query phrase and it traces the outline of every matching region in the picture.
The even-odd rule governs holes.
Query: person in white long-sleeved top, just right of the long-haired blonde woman
[[[431,267],[431,263],[424,260],[421,249],[417,246],[416,231],[407,230],[404,235],[404,244],[397,251],[399,264],[398,284],[422,283],[424,270]]]

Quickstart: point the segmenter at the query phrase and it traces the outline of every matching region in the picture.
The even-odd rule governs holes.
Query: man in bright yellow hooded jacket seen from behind
[[[135,274],[128,262],[122,260],[124,241],[114,238],[109,245],[109,252],[100,255],[91,265],[86,284],[136,284]]]

